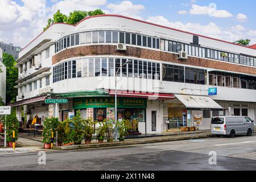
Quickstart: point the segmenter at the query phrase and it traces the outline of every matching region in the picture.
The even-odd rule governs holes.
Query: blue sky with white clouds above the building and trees
[[[251,0],[0,0],[0,42],[25,47],[59,9],[102,9],[184,31],[256,44],[256,1]]]

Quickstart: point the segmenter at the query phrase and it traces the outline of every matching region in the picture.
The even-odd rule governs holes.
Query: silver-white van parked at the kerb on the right
[[[255,125],[249,117],[244,116],[221,116],[213,117],[210,126],[211,133],[220,137],[228,135],[233,138],[236,135],[251,136],[254,133]]]

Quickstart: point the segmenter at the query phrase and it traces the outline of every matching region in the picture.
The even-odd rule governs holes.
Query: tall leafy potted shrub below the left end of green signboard
[[[75,117],[72,118],[72,131],[71,137],[75,144],[81,144],[82,138],[84,137],[84,119],[81,118],[80,111],[77,111]]]

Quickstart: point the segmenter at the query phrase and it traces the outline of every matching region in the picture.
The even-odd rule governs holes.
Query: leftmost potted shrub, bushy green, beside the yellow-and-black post
[[[13,147],[13,142],[16,145],[18,140],[19,121],[15,115],[7,115],[6,117],[6,142],[9,147]],[[15,137],[13,138],[13,131],[15,131]]]

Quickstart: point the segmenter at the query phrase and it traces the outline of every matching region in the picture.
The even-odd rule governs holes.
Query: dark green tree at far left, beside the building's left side
[[[3,64],[6,66],[6,103],[15,102],[18,89],[15,89],[15,81],[18,79],[18,68],[13,56],[3,53]]]

